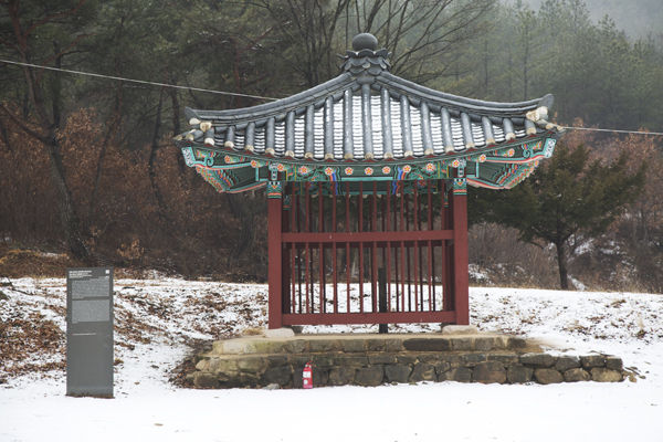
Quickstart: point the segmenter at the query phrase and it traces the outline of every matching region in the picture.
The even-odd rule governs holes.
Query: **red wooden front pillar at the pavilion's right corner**
[[[470,324],[470,275],[467,252],[467,187],[463,178],[453,182],[453,288],[456,324]]]

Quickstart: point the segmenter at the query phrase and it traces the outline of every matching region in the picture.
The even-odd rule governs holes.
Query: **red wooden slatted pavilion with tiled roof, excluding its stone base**
[[[469,324],[466,187],[508,189],[552,155],[552,96],[460,97],[389,73],[370,34],[343,72],[259,106],[186,109],[187,165],[265,188],[269,326]]]

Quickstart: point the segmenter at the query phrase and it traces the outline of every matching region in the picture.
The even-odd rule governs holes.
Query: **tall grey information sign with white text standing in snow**
[[[66,271],[66,394],[113,397],[113,269]]]

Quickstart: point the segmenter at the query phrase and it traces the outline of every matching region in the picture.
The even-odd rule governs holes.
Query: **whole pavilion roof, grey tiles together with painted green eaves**
[[[370,34],[352,49],[340,75],[291,97],[187,108],[191,129],[176,137],[187,165],[220,192],[270,181],[453,178],[508,189],[552,155],[562,129],[547,120],[551,95],[495,103],[445,94],[390,74]]]

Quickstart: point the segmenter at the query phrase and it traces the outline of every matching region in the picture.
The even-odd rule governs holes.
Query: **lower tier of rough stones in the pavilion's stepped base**
[[[198,388],[301,388],[302,369],[313,365],[313,382],[325,386],[378,386],[393,382],[482,383],[618,382],[620,358],[606,355],[554,356],[516,351],[367,351],[203,357],[188,377]]]

